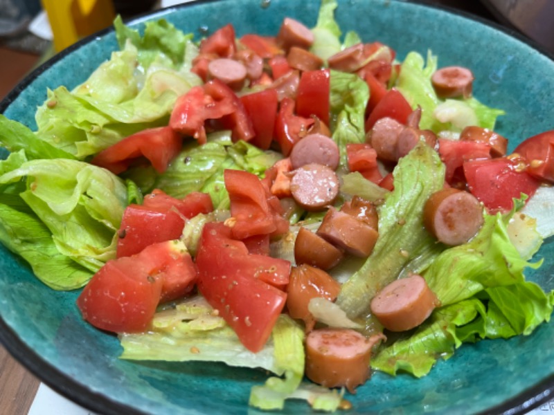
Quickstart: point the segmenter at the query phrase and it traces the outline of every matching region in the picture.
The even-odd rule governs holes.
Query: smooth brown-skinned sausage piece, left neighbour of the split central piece
[[[296,265],[308,264],[322,270],[330,270],[339,264],[342,257],[341,250],[318,234],[306,228],[300,228],[298,231],[294,241]]]

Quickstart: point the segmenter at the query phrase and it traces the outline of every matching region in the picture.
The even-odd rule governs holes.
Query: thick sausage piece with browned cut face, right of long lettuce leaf
[[[425,228],[447,245],[466,243],[483,225],[481,203],[469,192],[447,187],[431,194],[423,210]]]

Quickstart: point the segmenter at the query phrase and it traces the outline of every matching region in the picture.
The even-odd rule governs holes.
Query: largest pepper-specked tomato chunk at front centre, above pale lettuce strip
[[[240,248],[233,242],[231,230],[224,224],[204,225],[196,257],[198,288],[244,347],[256,353],[271,335],[287,295],[245,271],[247,248],[244,243],[239,242]],[[265,264],[273,264],[274,258],[262,258]]]

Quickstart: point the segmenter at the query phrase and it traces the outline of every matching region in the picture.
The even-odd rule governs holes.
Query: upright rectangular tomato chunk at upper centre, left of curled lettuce
[[[296,113],[309,118],[316,116],[329,125],[330,73],[328,69],[304,71],[298,84]]]

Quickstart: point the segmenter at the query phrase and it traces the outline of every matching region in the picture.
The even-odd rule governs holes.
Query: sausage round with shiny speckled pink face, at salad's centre
[[[294,171],[290,191],[305,210],[323,210],[339,195],[339,177],[328,166],[310,163]]]

